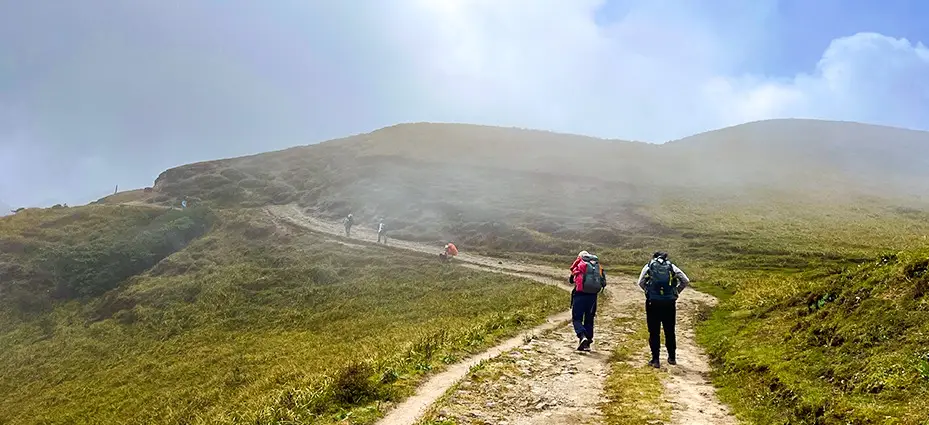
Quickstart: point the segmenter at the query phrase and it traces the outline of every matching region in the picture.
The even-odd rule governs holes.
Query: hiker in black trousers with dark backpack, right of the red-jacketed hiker
[[[661,367],[661,327],[664,326],[668,364],[676,365],[677,340],[674,322],[677,315],[677,297],[690,283],[681,269],[668,260],[668,253],[658,251],[639,274],[639,287],[645,291],[645,317],[648,322],[648,345],[652,350],[649,366]]]

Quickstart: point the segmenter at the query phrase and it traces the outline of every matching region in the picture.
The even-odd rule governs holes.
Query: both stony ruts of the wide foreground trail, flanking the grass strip
[[[618,283],[618,285],[617,285]],[[631,280],[609,286],[609,297],[597,312],[597,342],[592,353],[575,351],[571,326],[564,326],[524,342],[485,366],[493,379],[478,374],[454,389],[435,407],[432,417],[458,424],[599,424],[604,402],[603,385],[609,373],[608,359],[618,333],[632,333],[615,319],[644,320],[642,295]],[[678,365],[663,366],[663,397],[671,405],[671,424],[736,424],[715,397],[709,382],[709,364],[693,339],[698,307],[714,300],[697,291],[679,302]],[[647,343],[639,342],[645,365]]]

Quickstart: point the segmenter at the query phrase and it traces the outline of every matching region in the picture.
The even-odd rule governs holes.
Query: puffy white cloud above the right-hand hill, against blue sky
[[[735,122],[803,116],[925,128],[929,118],[929,49],[881,34],[834,40],[812,72],[789,81],[732,80],[715,84],[739,106]]]

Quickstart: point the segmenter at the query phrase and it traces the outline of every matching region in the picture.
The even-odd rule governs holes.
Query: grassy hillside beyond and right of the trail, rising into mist
[[[700,337],[741,417],[908,424],[929,420],[912,404],[924,302],[901,271],[929,246],[927,153],[929,133],[812,120],[661,146],[416,124],[180,167],[155,189],[384,217],[396,237],[534,261],[589,247],[632,272],[667,249],[724,296]]]

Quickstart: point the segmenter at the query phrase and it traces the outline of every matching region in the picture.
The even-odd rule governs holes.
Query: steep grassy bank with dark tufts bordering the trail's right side
[[[929,421],[929,250],[800,274],[730,273],[699,336],[750,423]]]

